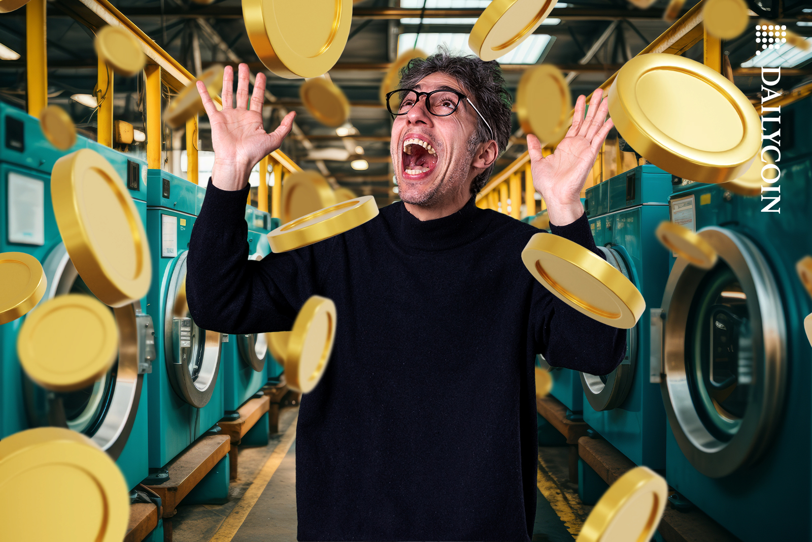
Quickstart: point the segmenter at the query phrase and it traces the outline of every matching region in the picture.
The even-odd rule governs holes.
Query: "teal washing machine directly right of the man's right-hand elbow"
[[[626,331],[626,355],[615,371],[579,373],[584,421],[635,464],[664,469],[665,410],[659,384],[650,382],[649,307],[659,306],[668,276],[668,251],[652,232],[668,219],[672,176],[638,166],[588,190],[590,209],[600,213],[589,219],[595,244],[637,286],[646,312]]]

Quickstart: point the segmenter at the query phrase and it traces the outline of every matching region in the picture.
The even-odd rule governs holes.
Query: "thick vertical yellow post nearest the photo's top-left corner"
[[[28,74],[28,115],[40,116],[48,106],[48,49],[45,45],[45,0],[25,7],[25,50]]]

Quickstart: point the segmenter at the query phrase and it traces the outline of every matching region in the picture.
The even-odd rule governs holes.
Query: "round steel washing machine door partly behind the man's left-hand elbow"
[[[195,408],[208,404],[220,370],[222,337],[198,327],[186,303],[186,257],[175,258],[166,288],[163,344],[166,371],[175,393]]]

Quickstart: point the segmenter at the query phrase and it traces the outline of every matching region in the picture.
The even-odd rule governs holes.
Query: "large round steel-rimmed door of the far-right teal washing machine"
[[[664,324],[652,318],[651,325],[652,337],[663,335],[660,388],[676,441],[697,470],[719,478],[756,461],[780,425],[786,327],[758,247],[727,228],[699,236],[719,262],[704,270],[677,258],[663,295]]]

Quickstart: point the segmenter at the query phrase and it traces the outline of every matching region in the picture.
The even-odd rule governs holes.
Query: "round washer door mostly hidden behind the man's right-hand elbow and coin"
[[[599,246],[599,250],[618,271],[623,273],[629,281],[634,284],[632,263],[628,261],[628,254],[624,257],[620,248]],[[637,284],[635,284],[637,286]],[[639,325],[639,324],[638,324]],[[620,365],[608,375],[595,376],[588,373],[581,373],[581,385],[584,388],[584,395],[590,406],[594,410],[611,410],[620,406],[628,396],[628,391],[632,388],[634,368],[637,366],[637,326],[629,327],[626,330],[626,355]]]

